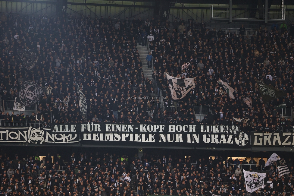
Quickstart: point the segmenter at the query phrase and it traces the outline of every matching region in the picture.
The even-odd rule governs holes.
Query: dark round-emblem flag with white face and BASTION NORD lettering
[[[39,100],[44,92],[46,92],[46,89],[36,82],[24,81],[20,86],[16,101],[24,106],[30,107]]]

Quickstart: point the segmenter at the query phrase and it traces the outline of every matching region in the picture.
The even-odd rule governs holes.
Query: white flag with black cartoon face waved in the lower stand
[[[264,188],[264,178],[266,177],[266,172],[249,172],[243,169],[243,174],[245,178],[246,191],[252,193],[259,188]]]

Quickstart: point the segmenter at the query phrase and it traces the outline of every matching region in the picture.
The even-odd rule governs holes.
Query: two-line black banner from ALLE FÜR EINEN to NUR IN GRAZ
[[[183,124],[55,124],[52,134],[77,133],[82,144],[153,147],[248,147],[246,133],[233,135],[237,127]]]

